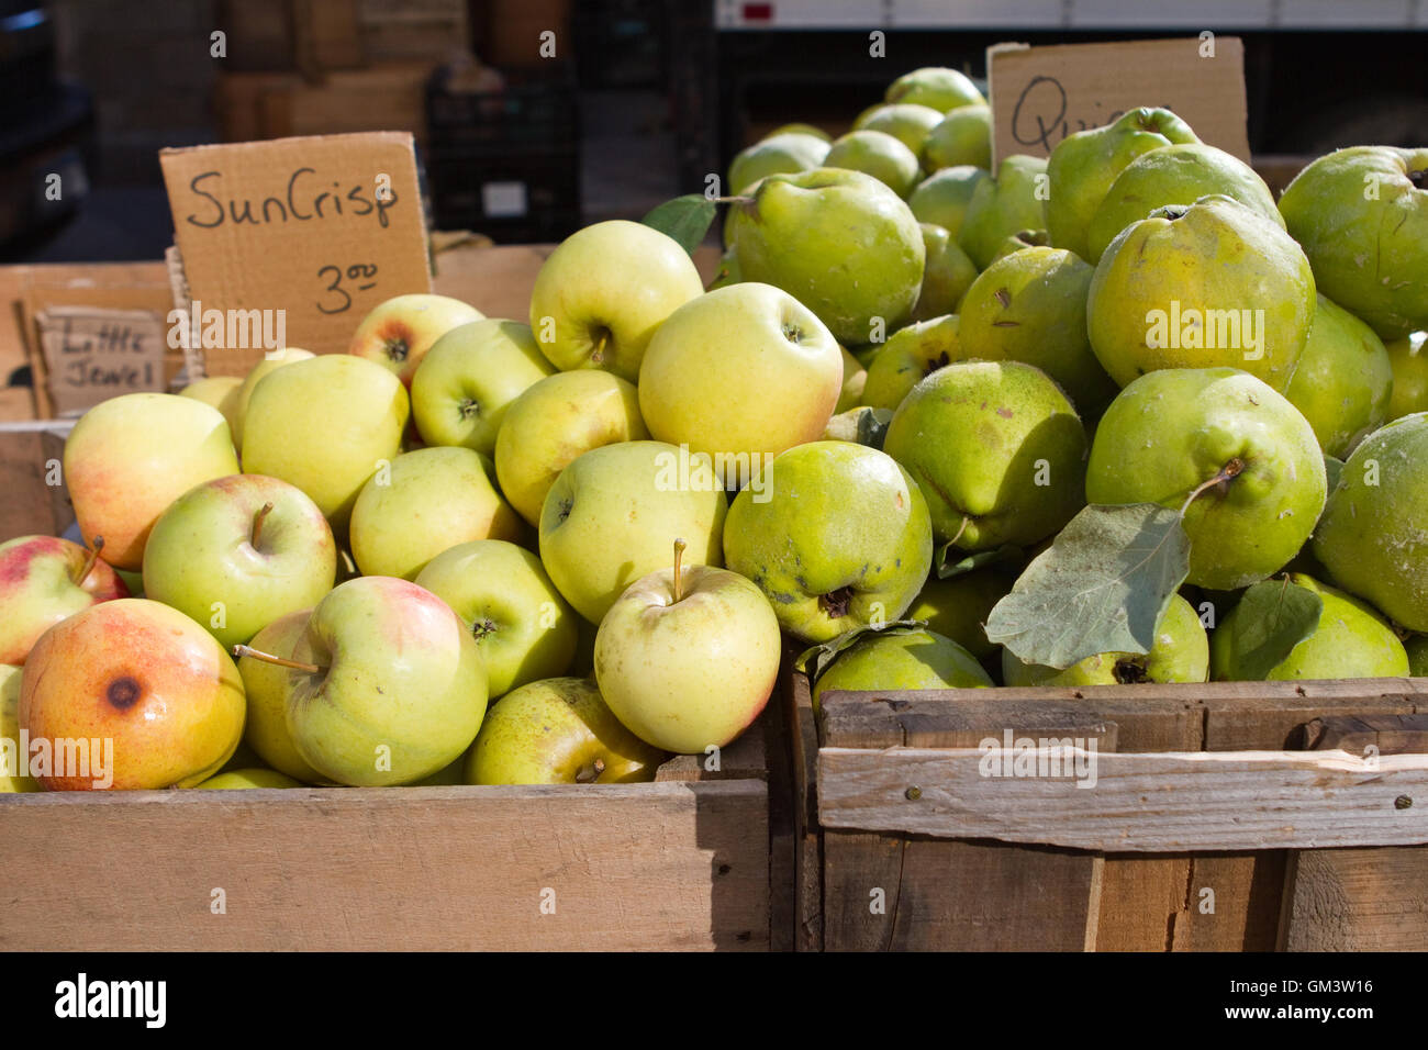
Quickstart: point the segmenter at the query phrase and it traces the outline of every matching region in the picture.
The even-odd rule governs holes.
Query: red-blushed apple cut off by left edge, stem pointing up
[[[103,547],[103,537],[96,539]],[[129,596],[99,550],[54,536],[0,543],[0,664],[23,664],[44,631],[81,609]]]

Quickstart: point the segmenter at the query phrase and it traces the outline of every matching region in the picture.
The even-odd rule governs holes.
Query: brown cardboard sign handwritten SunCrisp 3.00
[[[286,346],[343,353],[374,306],[431,291],[407,133],[196,146],[159,160],[191,297],[176,307],[197,319],[186,334],[210,376],[241,376],[277,349],[261,344],[276,331]]]

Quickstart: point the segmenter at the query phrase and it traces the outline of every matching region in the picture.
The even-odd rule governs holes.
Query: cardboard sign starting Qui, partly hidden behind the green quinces
[[[1068,134],[1160,106],[1201,141],[1250,163],[1244,43],[1238,37],[987,49],[992,164],[1047,157]]]

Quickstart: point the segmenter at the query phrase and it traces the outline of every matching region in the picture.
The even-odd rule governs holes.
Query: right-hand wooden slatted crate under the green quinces
[[[783,699],[801,950],[1428,949],[1428,680]],[[1007,730],[1098,787],[981,777]]]

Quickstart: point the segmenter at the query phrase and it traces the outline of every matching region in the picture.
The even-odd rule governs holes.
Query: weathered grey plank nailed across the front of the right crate
[[[1085,766],[1080,780],[1070,766],[1065,776],[988,777],[981,750],[825,747],[818,817],[824,827],[1112,851],[1428,843],[1428,756],[1367,763],[1344,751],[1027,754],[1041,770]],[[1078,787],[1092,773],[1091,790]]]

